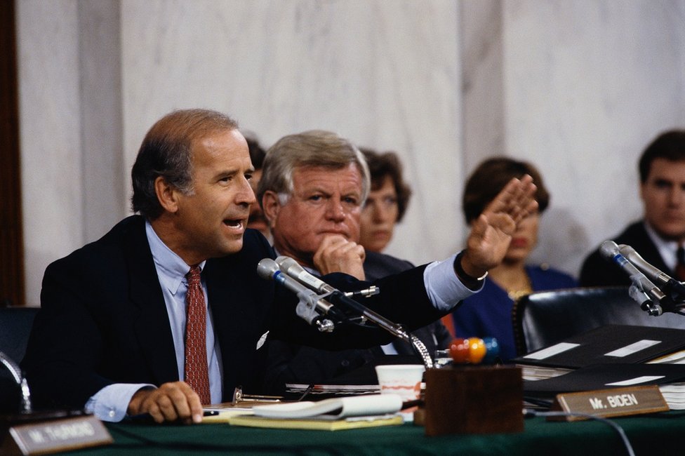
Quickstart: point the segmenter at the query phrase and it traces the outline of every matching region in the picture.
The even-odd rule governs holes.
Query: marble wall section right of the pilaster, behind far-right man
[[[503,18],[506,151],[552,193],[535,255],[577,272],[641,217],[644,147],[685,128],[685,2],[504,1]]]

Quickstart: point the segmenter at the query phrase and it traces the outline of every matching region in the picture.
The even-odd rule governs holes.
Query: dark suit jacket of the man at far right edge
[[[617,244],[626,244],[635,249],[646,262],[664,271],[669,276],[674,276],[674,271],[666,266],[658,249],[652,242],[644,222],[634,222],[625,231],[613,239]],[[599,248],[594,250],[583,262],[580,270],[581,286],[630,286],[630,277],[620,269],[618,264],[610,262],[599,253]]]

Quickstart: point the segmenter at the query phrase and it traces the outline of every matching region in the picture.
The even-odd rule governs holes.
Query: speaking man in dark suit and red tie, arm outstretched
[[[181,110],[152,126],[131,173],[140,215],[46,269],[22,361],[37,405],[85,408],[107,421],[148,413],[200,422],[204,403],[228,400],[239,385],[260,391],[271,338],[327,348],[384,339],[366,328],[317,333],[295,316],[291,295],[258,277],[259,260],[274,254],[245,229],[252,171],[245,138],[223,114]],[[383,279],[385,297],[368,303],[414,328],[444,314],[501,259],[535,208],[534,188],[512,182],[458,261]],[[448,290],[435,277],[444,269]],[[330,280],[363,285],[342,274]],[[394,305],[404,295],[415,297],[411,306]]]

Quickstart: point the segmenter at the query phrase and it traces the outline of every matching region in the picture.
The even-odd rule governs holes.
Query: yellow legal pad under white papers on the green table
[[[363,427],[397,426],[402,424],[401,415],[377,417],[348,417],[340,420],[295,420],[292,418],[267,418],[254,415],[239,415],[228,420],[232,426],[265,427],[272,429],[315,429],[319,431],[340,431]]]

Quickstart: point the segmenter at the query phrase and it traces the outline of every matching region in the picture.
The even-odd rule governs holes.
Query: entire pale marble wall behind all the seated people
[[[390,253],[463,243],[484,156],[540,166],[536,255],[575,273],[639,215],[634,163],[685,125],[685,0],[22,0],[27,303],[48,262],[128,213],[142,136],[171,109],[235,116],[270,145],[311,128],[394,149],[414,189]]]

